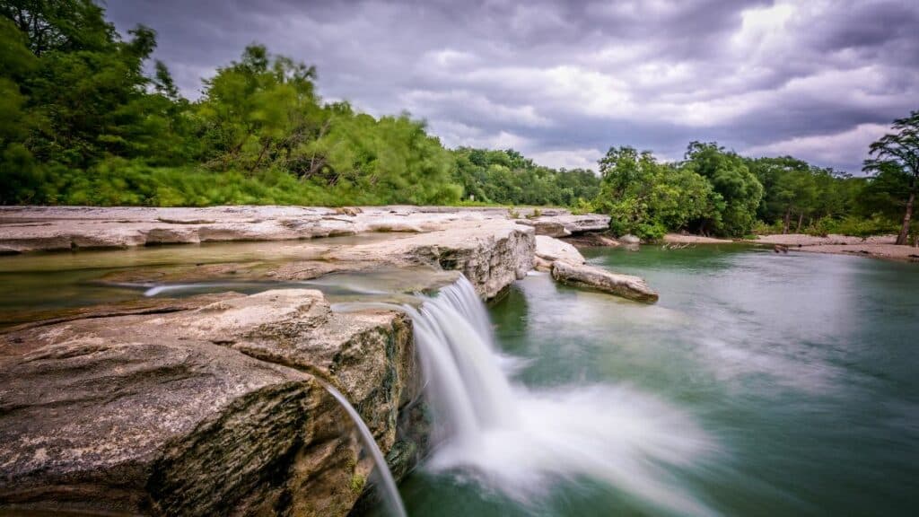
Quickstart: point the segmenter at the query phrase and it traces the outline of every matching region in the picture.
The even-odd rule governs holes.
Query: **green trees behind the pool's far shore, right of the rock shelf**
[[[911,226],[919,180],[919,111],[894,121],[871,144],[853,176],[792,156],[751,158],[717,143],[693,142],[684,159],[661,163],[650,151],[612,147],[599,161],[592,209],[612,230],[642,238],[687,231],[705,236],[806,232],[915,239]]]

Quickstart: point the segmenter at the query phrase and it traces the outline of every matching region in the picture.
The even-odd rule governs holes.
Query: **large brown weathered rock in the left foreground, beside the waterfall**
[[[346,515],[370,465],[318,378],[387,453],[420,393],[413,358],[403,315],[337,314],[311,290],[14,329],[0,509]]]

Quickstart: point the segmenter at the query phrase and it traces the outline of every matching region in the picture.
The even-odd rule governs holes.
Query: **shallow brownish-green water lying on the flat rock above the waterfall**
[[[273,281],[264,274],[267,268],[255,268],[248,278],[233,279],[235,265],[280,265],[293,260],[322,260],[323,254],[336,247],[403,237],[368,234],[309,241],[130,247],[0,257],[0,327],[49,316],[62,309],[117,304],[144,297],[185,297],[225,291],[248,294],[267,289],[295,288],[317,289],[334,302],[344,302],[385,297],[390,293],[412,293],[455,279],[452,274],[444,275],[424,268],[377,268],[367,272],[334,273],[305,281]],[[220,280],[110,280],[112,275],[118,278],[119,274],[129,272],[142,278],[156,278],[170,271],[185,271],[209,264],[233,266],[221,274]]]

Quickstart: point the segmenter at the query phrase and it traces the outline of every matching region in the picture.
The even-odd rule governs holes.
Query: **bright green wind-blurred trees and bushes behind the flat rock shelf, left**
[[[451,152],[408,115],[315,94],[316,71],[260,45],[188,102],[151,29],[122,41],[90,0],[0,6],[0,203],[572,204],[590,171]],[[285,176],[286,175],[286,176]]]

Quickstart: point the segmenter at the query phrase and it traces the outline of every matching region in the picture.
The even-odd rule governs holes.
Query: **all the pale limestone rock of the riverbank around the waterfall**
[[[580,275],[572,282],[589,285],[596,271],[549,235],[605,228],[605,216],[511,215],[416,207],[7,208],[0,210],[0,249],[312,239],[296,258],[153,265],[106,281],[300,281],[394,268],[412,271],[403,288],[415,292],[436,290],[459,271],[487,299],[541,264],[563,270],[560,281]],[[399,234],[360,237],[371,232]],[[357,237],[346,244],[321,238],[343,235]],[[592,287],[652,301],[643,282],[631,285],[641,296],[623,285],[631,284],[607,277]],[[400,312],[334,311],[311,289],[90,306],[7,328],[0,333],[0,509],[345,515],[370,465],[319,381],[346,395],[402,476],[426,439],[412,336]]]

